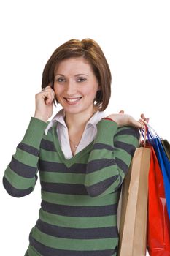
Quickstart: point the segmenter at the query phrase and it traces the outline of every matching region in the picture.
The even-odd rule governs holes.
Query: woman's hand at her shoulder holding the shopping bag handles
[[[141,114],[141,118],[139,119],[139,121],[137,121],[132,116],[124,114],[123,110],[121,110],[118,114],[109,115],[107,116],[107,118],[111,118],[113,121],[115,121],[118,127],[131,126],[131,127],[141,128],[142,124],[140,120],[144,122],[149,121],[149,118],[145,118],[143,113]]]

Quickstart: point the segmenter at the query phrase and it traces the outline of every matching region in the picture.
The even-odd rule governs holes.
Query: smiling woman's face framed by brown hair
[[[55,98],[66,113],[93,111],[93,101],[100,86],[86,59],[77,57],[61,61],[54,77]]]

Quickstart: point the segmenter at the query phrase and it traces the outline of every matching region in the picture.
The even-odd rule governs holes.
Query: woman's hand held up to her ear
[[[53,114],[54,99],[55,92],[49,84],[43,91],[36,94],[36,110],[34,117],[47,122]]]

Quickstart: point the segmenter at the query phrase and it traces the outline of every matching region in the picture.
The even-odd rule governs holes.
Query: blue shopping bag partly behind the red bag
[[[159,165],[161,167],[161,172],[163,174],[163,184],[165,188],[166,204],[170,219],[170,162],[164,151],[163,145],[161,143],[162,138],[158,136],[152,127],[148,124],[148,142],[154,148],[156,157],[158,159]]]

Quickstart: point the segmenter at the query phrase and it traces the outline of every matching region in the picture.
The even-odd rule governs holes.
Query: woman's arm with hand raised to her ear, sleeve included
[[[23,197],[34,190],[38,170],[39,147],[47,120],[53,113],[54,91],[50,84],[36,94],[36,109],[26,134],[18,144],[3,177],[9,195]]]

